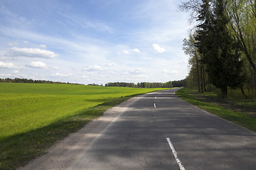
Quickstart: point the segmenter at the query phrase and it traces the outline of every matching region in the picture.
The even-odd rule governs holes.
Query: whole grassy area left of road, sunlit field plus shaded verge
[[[15,169],[108,108],[163,89],[0,83],[0,169]]]

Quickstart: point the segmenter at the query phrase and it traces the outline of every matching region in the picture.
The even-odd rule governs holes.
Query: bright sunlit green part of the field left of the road
[[[0,139],[36,130],[101,103],[156,89],[70,84],[0,84]]]

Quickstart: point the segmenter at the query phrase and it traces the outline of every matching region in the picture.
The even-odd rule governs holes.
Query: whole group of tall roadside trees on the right
[[[245,95],[256,94],[256,1],[191,0],[182,11],[191,13],[197,25],[183,40],[190,56],[188,86],[199,92],[211,85],[227,96],[228,89],[240,89]]]

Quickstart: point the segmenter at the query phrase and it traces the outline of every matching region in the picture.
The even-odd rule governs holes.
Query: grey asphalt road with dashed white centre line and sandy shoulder
[[[175,91],[122,103],[21,169],[256,169],[255,132],[181,101]]]

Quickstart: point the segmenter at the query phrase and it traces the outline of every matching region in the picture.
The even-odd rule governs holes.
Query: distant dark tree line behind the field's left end
[[[73,83],[65,83],[65,82],[60,82],[60,81],[48,81],[48,80],[33,80],[33,79],[20,79],[20,78],[15,78],[15,79],[1,79],[0,82],[2,83],[31,83],[31,84],[73,84]]]

